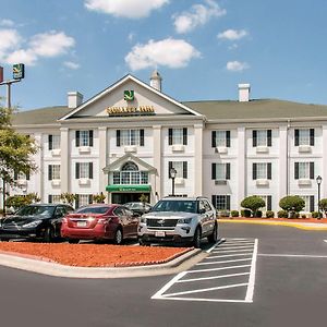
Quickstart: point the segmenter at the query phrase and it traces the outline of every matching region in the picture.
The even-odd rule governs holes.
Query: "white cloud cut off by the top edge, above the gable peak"
[[[117,17],[142,19],[166,3],[169,0],[85,0],[84,5],[90,11]]]

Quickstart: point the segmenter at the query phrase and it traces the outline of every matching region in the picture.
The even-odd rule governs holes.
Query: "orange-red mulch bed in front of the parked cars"
[[[0,242],[0,253],[68,266],[128,267],[169,262],[192,247]]]

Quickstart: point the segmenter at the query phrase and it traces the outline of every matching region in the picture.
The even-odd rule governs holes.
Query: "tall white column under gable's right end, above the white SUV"
[[[194,195],[203,195],[203,124],[194,125]]]

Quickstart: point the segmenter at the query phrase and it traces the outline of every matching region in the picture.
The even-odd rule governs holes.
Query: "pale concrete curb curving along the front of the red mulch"
[[[55,277],[66,278],[130,278],[178,274],[207,256],[199,249],[189,251],[181,256],[159,265],[134,267],[88,268],[71,267],[57,263],[43,262],[21,256],[0,254],[0,265]]]

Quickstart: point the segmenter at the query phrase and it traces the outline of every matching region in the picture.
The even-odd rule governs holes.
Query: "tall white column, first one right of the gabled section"
[[[246,196],[246,137],[245,128],[238,128],[238,205],[241,205],[242,199]]]

